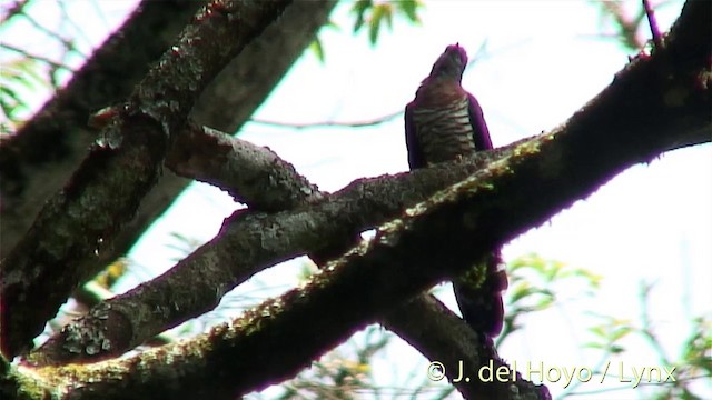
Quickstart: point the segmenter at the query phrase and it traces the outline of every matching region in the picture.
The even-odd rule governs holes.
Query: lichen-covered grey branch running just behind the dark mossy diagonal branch
[[[241,143],[230,144],[233,149],[248,149],[249,153],[255,151],[251,144],[237,139],[233,142]],[[220,152],[218,150],[216,154],[218,159],[221,157]],[[249,153],[239,158],[250,159]],[[487,160],[493,159],[495,153],[498,152],[483,153],[459,168],[441,166],[397,177],[362,179],[314,206],[303,206],[293,211],[271,214],[249,210],[236,211],[226,219],[222,229],[211,241],[162,276],[95,307],[79,323],[67,327],[60,333],[61,338],[58,338],[57,343],[48,342],[47,347],[55,350],[41,350],[40,354],[47,354],[36,353],[32,361],[56,363],[106,358],[126,351],[158,332],[212,309],[227,291],[265,268],[298,254],[323,249],[329,244],[324,238],[337,238],[353,230],[374,228],[377,223],[398,214],[406,206],[423,201],[437,190],[466,178],[482,168]],[[172,159],[172,154],[169,159]],[[259,159],[265,159],[265,154]],[[192,159],[186,160],[186,164],[197,163]],[[224,166],[230,168],[237,163],[228,162]],[[234,172],[239,176],[244,167]],[[247,166],[246,170],[250,171],[254,168]],[[287,167],[279,173],[290,170]],[[274,169],[269,171],[274,172]],[[263,180],[278,181],[270,176]],[[294,178],[294,181],[299,181],[299,178]],[[285,208],[297,206],[289,204],[293,201],[289,197],[281,201],[288,206]],[[171,307],[157,309],[151,304]],[[78,334],[93,330],[102,336],[109,334],[110,349],[91,354],[67,353],[71,348],[96,347],[93,340],[87,341],[87,337],[93,339],[97,336]],[[123,337],[115,337],[113,332]],[[85,339],[77,342],[80,338]]]

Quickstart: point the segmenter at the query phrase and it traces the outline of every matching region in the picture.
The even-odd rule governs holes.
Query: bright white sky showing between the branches
[[[70,4],[72,10],[79,10],[90,2]],[[125,7],[119,1],[99,4],[105,10]],[[668,30],[680,7],[659,10],[661,29]],[[49,11],[42,16],[46,23],[57,26],[56,16]],[[105,16],[120,21],[115,11],[105,11]],[[486,43],[486,57],[477,59],[465,72],[463,86],[479,100],[495,146],[503,146],[562,123],[609,84],[627,61],[627,53],[613,40],[597,37],[600,14],[584,1],[437,1],[428,2],[421,16],[421,27],[394,21],[393,32],[383,30],[377,46],[372,48],[365,32],[350,33],[353,16],[348,3],[339,6],[332,18],[340,31],[324,30],[320,36],[326,63],[305,53],[255,117],[281,122],[348,122],[390,114],[413,99],[419,81],[447,44],[459,42],[474,57]],[[81,23],[88,36],[106,29],[99,18],[82,18]],[[19,38],[2,33],[7,41]],[[100,42],[97,38],[91,40]],[[362,129],[295,131],[249,123],[240,137],[269,146],[329,191],[360,177],[407,169],[400,117]],[[506,259],[536,252],[587,269],[604,280],[600,297],[562,301],[551,311],[528,318],[525,328],[505,341],[501,354],[520,366],[543,361],[546,367],[594,368],[597,359],[580,346],[592,338],[581,327],[593,323],[590,313],[637,319],[639,288],[641,282],[649,282],[654,284],[650,304],[653,326],[668,356],[676,359],[682,341],[690,334],[690,319],[712,314],[711,156],[712,147],[705,144],[636,166],[510,243],[504,249]],[[170,232],[208,240],[234,209],[224,193],[195,184],[155,224],[131,258],[151,274],[160,273],[177,257],[166,248],[176,243]],[[291,262],[266,271],[256,277],[255,286],[238,291],[250,292],[260,281],[286,290],[296,279],[285,274],[297,266]],[[142,270],[141,276],[146,274]],[[126,279],[122,290],[136,283]],[[575,297],[578,290],[575,286],[562,288],[561,298]],[[454,306],[449,291],[443,293],[445,301]],[[643,340],[635,338],[624,344],[631,351],[613,360],[624,361],[624,368],[660,366],[656,353]],[[419,357],[405,344],[395,346],[387,354],[376,364],[386,371],[387,384],[397,382],[398,373],[411,371],[414,362],[403,360]],[[393,372],[400,363],[402,371]],[[625,384],[630,383],[589,382],[581,390],[594,392]],[[548,388],[555,396],[564,390],[561,382],[548,383]],[[698,394],[712,398],[709,382],[700,382],[696,388]],[[616,398],[645,397],[640,388],[613,393]],[[611,396],[604,392],[577,398]]]

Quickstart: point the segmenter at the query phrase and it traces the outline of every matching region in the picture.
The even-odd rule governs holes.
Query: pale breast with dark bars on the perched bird
[[[467,98],[445,107],[413,110],[416,138],[428,164],[451,161],[475,152]]]

